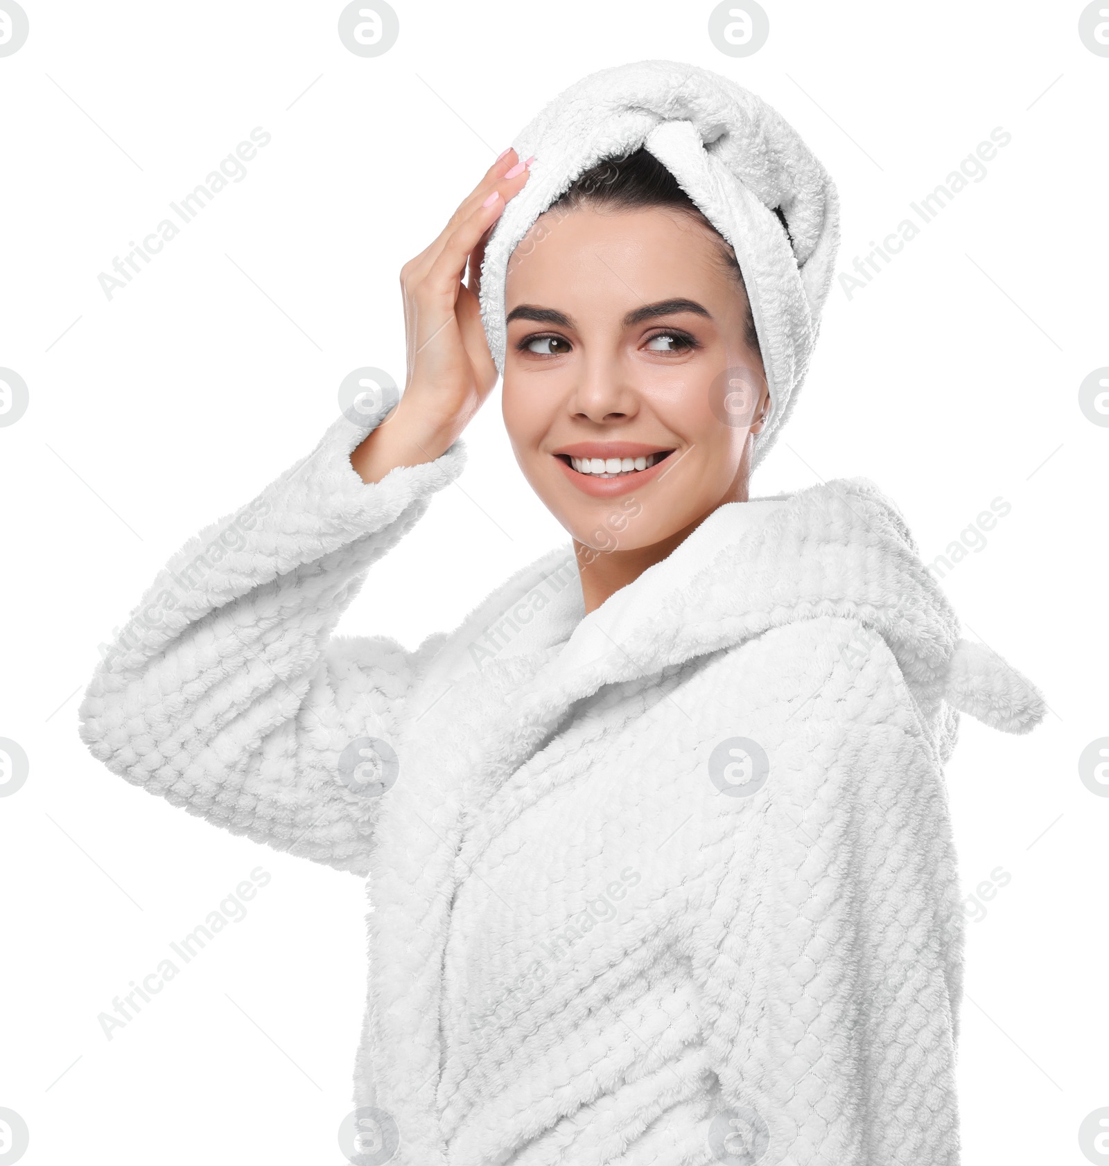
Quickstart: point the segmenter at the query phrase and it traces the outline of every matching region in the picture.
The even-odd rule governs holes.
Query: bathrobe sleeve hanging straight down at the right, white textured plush
[[[939,1166],[957,1159],[963,943],[942,774],[880,638],[857,628],[848,661],[828,647],[823,690],[770,743],[765,799],[731,800],[749,833],[702,971],[713,1136],[759,1166]]]

